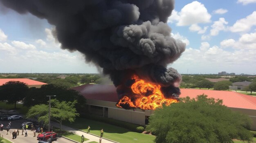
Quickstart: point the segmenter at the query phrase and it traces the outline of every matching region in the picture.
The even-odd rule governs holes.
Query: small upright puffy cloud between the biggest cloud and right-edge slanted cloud
[[[225,18],[220,18],[219,21],[215,21],[213,25],[211,25],[211,35],[216,36],[219,34],[219,31],[225,30],[228,22],[225,21]]]

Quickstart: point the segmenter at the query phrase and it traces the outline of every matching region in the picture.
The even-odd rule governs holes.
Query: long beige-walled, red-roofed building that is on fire
[[[141,110],[139,108],[125,110],[115,106],[119,101],[115,86],[87,84],[71,89],[80,92],[86,98],[87,108],[84,112],[88,114],[97,114],[102,117],[145,125],[148,123],[148,117],[154,113],[153,110]],[[223,105],[229,109],[243,112],[251,117],[253,121],[251,130],[256,130],[256,97],[232,91],[198,89],[180,89],[180,91],[180,97],[196,98],[197,95],[204,94],[208,95],[209,98],[222,99]]]

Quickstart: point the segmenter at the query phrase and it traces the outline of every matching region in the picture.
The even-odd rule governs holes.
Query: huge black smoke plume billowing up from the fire
[[[181,75],[173,68],[166,69],[185,50],[184,43],[171,37],[171,28],[166,24],[174,0],[0,2],[18,13],[48,20],[55,26],[54,35],[63,49],[85,54],[86,61],[103,68],[115,86],[126,86],[136,74],[179,92]],[[165,93],[173,96],[166,89]]]

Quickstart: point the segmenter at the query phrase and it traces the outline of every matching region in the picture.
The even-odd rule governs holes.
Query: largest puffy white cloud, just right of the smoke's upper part
[[[177,26],[187,26],[197,23],[208,23],[211,22],[211,15],[207,12],[204,4],[193,1],[186,4],[180,12],[174,11],[169,22],[177,21]]]

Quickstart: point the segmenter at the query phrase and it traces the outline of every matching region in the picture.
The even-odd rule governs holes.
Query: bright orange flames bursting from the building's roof
[[[134,99],[132,100],[128,96],[124,96],[116,104],[117,107],[123,108],[128,106],[129,108],[155,110],[158,107],[162,107],[163,104],[169,106],[171,103],[178,102],[177,99],[164,98],[160,85],[146,82],[137,76],[134,76],[133,79],[135,79],[135,83],[132,84],[131,89],[135,93]]]

